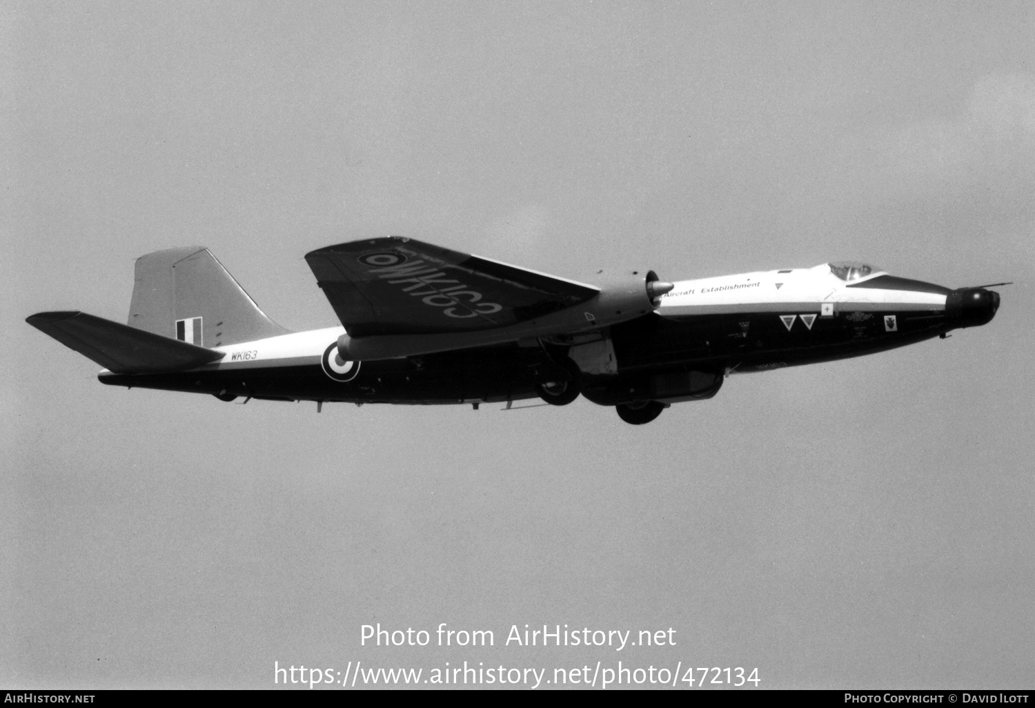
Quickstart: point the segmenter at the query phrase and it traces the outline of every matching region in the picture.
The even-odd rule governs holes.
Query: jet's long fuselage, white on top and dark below
[[[558,356],[601,405],[710,397],[729,374],[870,354],[988,322],[983,288],[949,290],[862,264],[675,282],[653,313],[549,341],[375,361],[345,361],[328,327],[216,347],[225,356],[176,374],[101,372],[107,384],[285,401],[449,404],[532,399]]]

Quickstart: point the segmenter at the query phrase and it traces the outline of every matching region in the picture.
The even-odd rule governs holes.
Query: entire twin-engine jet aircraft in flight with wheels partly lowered
[[[203,247],[137,261],[128,324],[80,312],[29,324],[106,384],[220,401],[563,406],[581,393],[646,423],[726,376],[871,354],[989,322],[994,286],[950,290],[861,263],[599,286],[414,239],[305,256],[341,327],[292,332]],[[997,284],[1006,285],[1006,284]]]

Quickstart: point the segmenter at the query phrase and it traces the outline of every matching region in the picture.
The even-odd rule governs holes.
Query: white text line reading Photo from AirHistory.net
[[[435,630],[437,646],[440,647],[492,647],[496,645],[496,633],[492,629],[449,629],[448,624],[442,622]],[[616,651],[621,651],[628,646],[676,646],[676,631],[668,629],[643,629],[638,635],[632,635],[630,629],[569,629],[565,624],[562,628],[560,624],[551,627],[542,625],[542,629],[530,629],[525,625],[525,629],[519,629],[516,624],[510,625],[507,639],[503,646],[519,647],[614,647]],[[631,636],[630,636],[631,635]],[[363,624],[359,630],[359,644],[366,646],[366,642],[377,647],[425,647],[431,644],[432,632],[426,629],[382,629],[381,623]],[[631,640],[631,641],[630,641]]]

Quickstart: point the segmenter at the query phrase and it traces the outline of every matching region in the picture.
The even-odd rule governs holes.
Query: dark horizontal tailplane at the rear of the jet
[[[38,313],[25,321],[116,374],[180,372],[224,357],[223,352],[86,313]]]

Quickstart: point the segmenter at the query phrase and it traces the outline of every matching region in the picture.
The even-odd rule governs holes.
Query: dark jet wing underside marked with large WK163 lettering
[[[352,337],[521,324],[586,302],[592,286],[390,236],[305,255]]]

